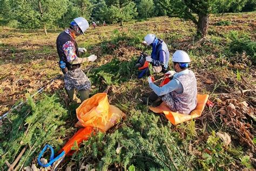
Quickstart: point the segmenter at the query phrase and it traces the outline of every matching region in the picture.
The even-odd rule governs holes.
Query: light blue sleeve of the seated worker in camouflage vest
[[[150,83],[150,88],[152,88],[154,93],[156,93],[158,96],[165,95],[165,94],[168,94],[173,91],[176,91],[177,93],[183,93],[182,84],[180,83],[180,81],[178,79],[175,79],[175,78],[182,74],[188,74],[188,72],[189,72],[188,69],[186,69],[184,71],[175,73],[173,75],[173,79],[171,81],[169,81],[169,83],[167,83],[163,87],[159,87],[154,83]]]

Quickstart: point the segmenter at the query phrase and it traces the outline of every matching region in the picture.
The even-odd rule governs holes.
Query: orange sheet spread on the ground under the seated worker
[[[181,122],[185,122],[188,120],[191,120],[193,118],[200,117],[202,114],[206,101],[208,100],[209,95],[208,94],[198,94],[197,95],[197,106],[196,108],[191,111],[190,114],[181,114],[177,112],[172,112],[170,108],[165,104],[165,102],[162,102],[159,106],[157,107],[150,107],[150,110],[153,111],[154,113],[164,113],[166,118],[173,124],[177,125],[180,124]]]

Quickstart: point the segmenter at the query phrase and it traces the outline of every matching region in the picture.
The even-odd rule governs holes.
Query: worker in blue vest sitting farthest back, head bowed
[[[158,39],[156,35],[146,35],[143,41],[143,44],[152,46],[151,56],[142,57],[140,56],[136,67],[142,67],[145,61],[148,61],[153,66],[153,72],[166,72],[169,63],[169,50],[165,42],[161,39]]]

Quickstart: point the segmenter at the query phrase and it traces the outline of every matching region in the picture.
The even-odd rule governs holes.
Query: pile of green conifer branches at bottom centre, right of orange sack
[[[188,143],[181,141],[177,132],[170,131],[169,122],[161,121],[152,113],[136,110],[131,111],[128,122],[129,125],[106,134],[104,140],[96,135],[90,143],[84,142],[75,159],[83,155],[94,156],[96,159],[93,160],[99,161],[94,167],[99,170],[112,165],[125,170],[134,170],[135,167],[138,170],[186,170],[192,166],[194,156],[187,155]],[[98,151],[93,150],[93,145]],[[85,158],[85,162],[89,160]]]

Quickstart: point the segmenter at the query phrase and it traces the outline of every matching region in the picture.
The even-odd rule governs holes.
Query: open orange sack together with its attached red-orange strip
[[[95,134],[95,128],[99,131],[106,132],[114,126],[125,114],[119,108],[109,104],[106,93],[98,93],[93,97],[85,100],[76,110],[78,122],[76,126],[81,126],[78,132],[65,144],[59,153],[65,151],[66,155],[72,155],[71,147],[77,142],[86,141],[92,134]]]

